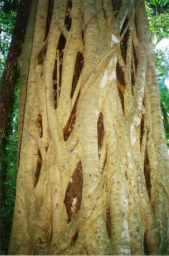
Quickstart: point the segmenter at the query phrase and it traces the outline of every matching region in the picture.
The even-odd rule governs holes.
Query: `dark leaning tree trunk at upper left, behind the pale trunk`
[[[15,27],[12,35],[12,41],[0,81],[0,139],[2,137],[7,113],[10,107],[11,97],[14,92],[15,81],[18,73],[19,61],[21,57],[22,46],[24,43],[24,37],[26,34],[31,4],[32,0],[30,0],[29,2],[22,0],[19,3]]]

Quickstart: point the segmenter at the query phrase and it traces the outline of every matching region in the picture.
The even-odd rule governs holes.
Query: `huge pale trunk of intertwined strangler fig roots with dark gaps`
[[[33,4],[9,254],[168,254],[168,153],[144,1]]]

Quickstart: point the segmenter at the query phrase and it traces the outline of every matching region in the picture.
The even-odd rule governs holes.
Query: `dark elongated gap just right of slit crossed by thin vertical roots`
[[[77,86],[82,68],[83,68],[83,55],[80,52],[78,52],[77,53],[77,59],[75,61],[74,73],[73,73],[71,98],[73,97],[73,93],[74,93],[74,90]]]

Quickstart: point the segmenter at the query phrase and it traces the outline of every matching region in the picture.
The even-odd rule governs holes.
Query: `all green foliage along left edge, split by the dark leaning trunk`
[[[0,77],[11,43],[17,6],[18,0],[0,1]],[[18,98],[19,76],[0,144],[0,254],[7,254],[13,220],[18,151]]]

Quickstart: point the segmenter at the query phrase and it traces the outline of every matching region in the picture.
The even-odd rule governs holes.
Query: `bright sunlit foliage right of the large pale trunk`
[[[169,0],[147,0],[146,10],[153,39],[156,72],[162,107],[162,116],[169,148],[169,91],[165,84],[169,80],[169,50],[162,48],[164,38],[169,38]],[[160,47],[159,47],[160,46]]]

